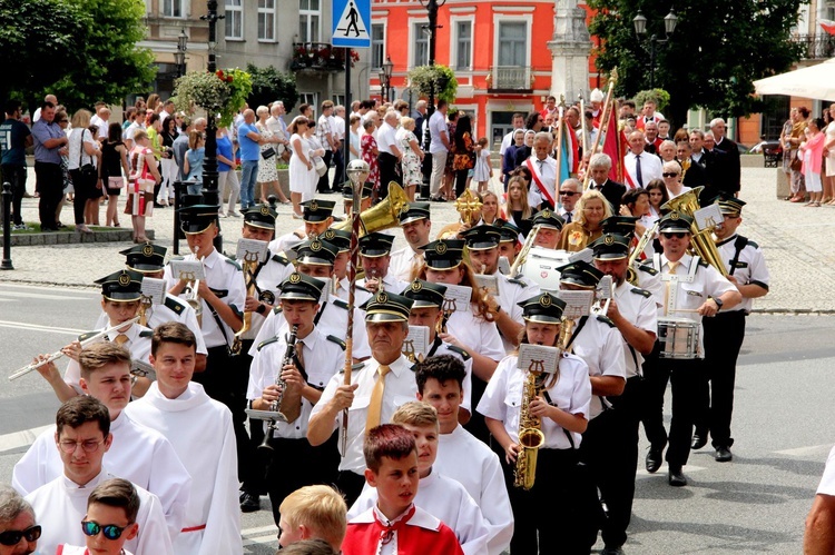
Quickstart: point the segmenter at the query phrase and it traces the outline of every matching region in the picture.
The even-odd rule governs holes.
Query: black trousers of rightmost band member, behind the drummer
[[[696,429],[710,430],[714,447],[730,447],[736,361],[745,340],[745,313],[734,310],[704,318],[705,377],[696,408]]]

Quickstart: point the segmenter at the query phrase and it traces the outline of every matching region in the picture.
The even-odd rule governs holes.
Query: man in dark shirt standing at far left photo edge
[[[26,195],[26,148],[32,146],[32,132],[20,121],[21,103],[6,103],[6,121],[0,125],[0,172],[3,182],[11,184],[11,211],[14,230],[28,229],[20,216],[20,201]]]

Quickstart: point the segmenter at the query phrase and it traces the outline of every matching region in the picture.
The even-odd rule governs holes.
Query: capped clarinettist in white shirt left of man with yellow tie
[[[267,490],[276,525],[284,498],[299,487],[332,484],[336,480],[340,453],[336,435],[317,447],[307,442],[307,420],[322,390],[345,361],[345,344],[325,335],[314,324],[318,303],[326,283],[321,279],[291,274],[281,284],[279,309],[284,315],[277,334],[259,344],[249,371],[247,398],[256,410],[277,410],[287,422],[276,422],[268,439],[275,456],[267,468]],[[291,328],[296,326],[295,337]],[[288,345],[288,339],[295,343]],[[287,358],[288,349],[293,355]],[[281,376],[279,376],[281,373]],[[284,381],[284,389],[278,378]],[[292,454],[292,455],[289,455]]]

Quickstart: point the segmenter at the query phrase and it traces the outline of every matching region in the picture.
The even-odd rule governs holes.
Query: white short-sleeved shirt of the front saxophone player
[[[517,357],[504,358],[488,381],[484,395],[475,408],[482,415],[501,420],[504,429],[513,440],[519,443],[519,414],[522,407],[522,392],[524,389],[527,371],[517,368]],[[572,415],[589,414],[591,402],[591,381],[589,367],[577,355],[563,354],[560,358],[560,379],[548,388],[551,402],[559,408]],[[546,440],[542,448],[570,449],[571,443],[566,437],[563,428],[551,418],[542,419],[542,433]],[[581,434],[571,432],[574,448],[580,447]]]

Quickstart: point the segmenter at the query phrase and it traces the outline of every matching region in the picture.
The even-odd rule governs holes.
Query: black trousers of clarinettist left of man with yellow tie
[[[276,437],[269,442],[273,452],[267,467],[267,493],[276,526],[281,519],[278,507],[286,496],[303,486],[336,483],[340,474],[338,436],[334,433],[327,442],[316,447],[304,437]]]

